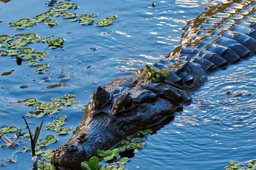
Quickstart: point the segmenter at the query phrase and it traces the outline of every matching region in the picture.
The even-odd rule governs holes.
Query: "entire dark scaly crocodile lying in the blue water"
[[[209,6],[183,28],[182,43],[166,59],[98,87],[70,140],[52,156],[60,170],[108,150],[138,130],[163,123],[192,101],[191,94],[216,70],[255,56],[256,2]]]

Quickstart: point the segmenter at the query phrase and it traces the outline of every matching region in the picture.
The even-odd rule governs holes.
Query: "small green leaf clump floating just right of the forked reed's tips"
[[[58,135],[67,134],[70,131],[70,127],[62,127],[66,116],[58,116],[52,123],[47,123],[47,129],[55,131]]]

